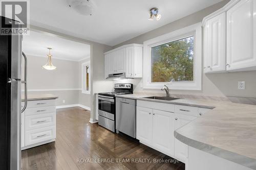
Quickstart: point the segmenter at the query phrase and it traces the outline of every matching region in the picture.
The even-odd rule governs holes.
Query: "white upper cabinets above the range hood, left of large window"
[[[105,78],[125,72],[125,78],[142,78],[143,45],[129,44],[105,53]]]

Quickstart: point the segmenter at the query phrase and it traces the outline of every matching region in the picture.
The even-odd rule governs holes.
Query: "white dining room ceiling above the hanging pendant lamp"
[[[53,58],[80,61],[90,57],[90,45],[44,33],[30,31],[23,36],[22,50],[27,55],[46,57],[51,47]]]

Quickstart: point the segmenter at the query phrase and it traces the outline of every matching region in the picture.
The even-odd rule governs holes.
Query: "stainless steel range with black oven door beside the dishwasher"
[[[114,92],[103,92],[98,94],[99,100],[99,125],[116,131],[116,98],[115,95],[132,94],[133,84],[118,83],[114,86]]]

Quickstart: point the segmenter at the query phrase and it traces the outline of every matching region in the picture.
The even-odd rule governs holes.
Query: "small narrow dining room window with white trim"
[[[82,63],[82,93],[91,92],[91,66],[90,61]]]

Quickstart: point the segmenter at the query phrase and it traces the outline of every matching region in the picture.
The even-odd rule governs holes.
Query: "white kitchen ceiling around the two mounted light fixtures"
[[[93,16],[83,16],[68,6],[68,0],[30,1],[32,25],[95,42],[116,45],[164,26],[222,0],[91,0]],[[162,18],[150,21],[149,10],[159,8]]]

